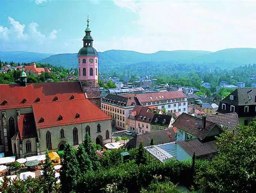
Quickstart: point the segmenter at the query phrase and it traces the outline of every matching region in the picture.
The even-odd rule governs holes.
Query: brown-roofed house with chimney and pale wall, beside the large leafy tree
[[[217,124],[182,113],[172,124],[177,128],[177,159],[188,160],[194,152],[197,158],[211,158],[217,153],[215,136],[223,132]]]

